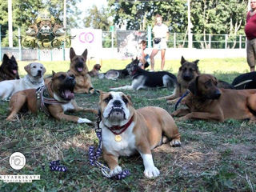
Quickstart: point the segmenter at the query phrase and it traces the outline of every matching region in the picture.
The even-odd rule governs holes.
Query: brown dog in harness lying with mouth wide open
[[[43,110],[46,114],[58,120],[66,120],[78,123],[91,123],[87,118],[78,118],[73,115],[66,115],[66,110],[84,111],[97,113],[97,110],[84,109],[79,107],[74,101],[74,74],[70,72],[53,72],[53,78],[48,86],[42,86],[36,89],[22,90],[15,93],[10,98],[10,115],[7,121],[13,121],[15,114],[22,109],[22,106],[36,113],[38,109]]]

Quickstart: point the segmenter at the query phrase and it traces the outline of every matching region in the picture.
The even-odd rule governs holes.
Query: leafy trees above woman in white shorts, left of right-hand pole
[[[170,32],[184,33],[187,26],[186,0],[172,1],[109,1],[114,23],[121,26],[126,22],[126,30],[146,30],[154,26],[154,15],[161,14]]]

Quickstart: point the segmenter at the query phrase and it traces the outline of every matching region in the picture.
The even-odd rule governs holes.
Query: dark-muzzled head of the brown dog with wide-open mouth
[[[74,74],[64,72],[53,73],[51,81],[51,89],[58,98],[62,98],[65,101],[70,101],[74,98]]]

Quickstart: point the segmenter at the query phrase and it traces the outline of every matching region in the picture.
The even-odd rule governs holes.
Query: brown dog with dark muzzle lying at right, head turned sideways
[[[187,109],[174,111],[178,120],[191,118],[224,122],[226,119],[246,119],[256,122],[256,90],[227,90],[217,87],[217,79],[200,74],[189,86],[185,98]]]

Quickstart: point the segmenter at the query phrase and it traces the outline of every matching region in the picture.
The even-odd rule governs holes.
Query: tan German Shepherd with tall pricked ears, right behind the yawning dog
[[[94,87],[90,81],[89,70],[86,66],[87,49],[82,55],[77,55],[74,49],[70,48],[70,72],[74,74],[77,82],[74,87],[74,93],[94,94]]]

